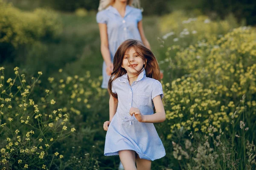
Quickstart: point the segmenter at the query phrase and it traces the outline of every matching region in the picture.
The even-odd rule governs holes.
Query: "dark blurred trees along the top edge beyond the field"
[[[99,0],[7,0],[23,9],[50,7],[58,11],[73,12],[77,8],[96,11]],[[200,10],[210,18],[224,19],[233,13],[240,23],[246,19],[247,25],[256,24],[256,4],[253,0],[141,0],[144,15],[163,15],[173,10],[184,9],[188,12]],[[28,6],[29,4],[29,6]]]

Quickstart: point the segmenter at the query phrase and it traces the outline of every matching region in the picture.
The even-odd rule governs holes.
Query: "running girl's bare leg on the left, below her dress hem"
[[[120,150],[118,153],[125,170],[137,170],[134,150]]]

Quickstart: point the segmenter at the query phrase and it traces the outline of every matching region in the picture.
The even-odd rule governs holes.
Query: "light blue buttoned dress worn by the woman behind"
[[[113,62],[117,48],[122,42],[128,39],[141,41],[138,22],[142,20],[141,10],[129,5],[125,8],[125,17],[121,17],[113,6],[99,11],[96,15],[97,23],[107,24],[108,48]],[[110,76],[106,73],[106,64],[102,65],[102,88],[108,88]]]

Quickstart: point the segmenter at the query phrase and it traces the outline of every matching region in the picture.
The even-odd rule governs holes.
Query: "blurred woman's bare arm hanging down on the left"
[[[100,51],[107,65],[107,70],[106,70],[107,74],[111,75],[113,71],[113,63],[111,62],[111,56],[108,48],[107,24],[99,23],[99,34],[100,34]]]

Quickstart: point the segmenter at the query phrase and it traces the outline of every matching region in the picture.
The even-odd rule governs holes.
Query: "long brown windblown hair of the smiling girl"
[[[140,41],[128,39],[124,41],[116,51],[113,61],[113,72],[108,81],[108,89],[111,95],[116,99],[117,94],[114,94],[112,92],[112,82],[118,77],[121,77],[122,75],[127,73],[127,71],[124,68],[122,68],[122,61],[125,56],[125,52],[131,47],[134,47],[137,54],[145,62],[144,69],[146,71],[146,77],[150,77],[160,81],[160,69],[157,63],[157,59],[154,57],[154,54],[148,48],[146,48]],[[138,71],[138,74],[140,74],[142,71],[143,68],[142,70]]]

